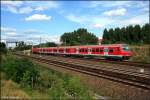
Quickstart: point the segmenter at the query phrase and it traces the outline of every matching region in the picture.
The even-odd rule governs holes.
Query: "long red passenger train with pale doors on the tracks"
[[[126,60],[131,57],[131,51],[128,49],[127,44],[32,48],[32,53],[93,57],[102,56],[121,60]]]

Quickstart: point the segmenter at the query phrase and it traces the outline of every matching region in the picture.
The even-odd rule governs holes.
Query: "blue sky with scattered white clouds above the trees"
[[[102,38],[105,28],[149,23],[149,1],[1,1],[1,40],[60,43],[78,28]]]

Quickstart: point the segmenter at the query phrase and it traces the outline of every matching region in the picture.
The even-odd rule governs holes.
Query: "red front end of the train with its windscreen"
[[[121,55],[123,60],[128,60],[132,56],[132,52],[127,44],[123,44],[121,46]]]

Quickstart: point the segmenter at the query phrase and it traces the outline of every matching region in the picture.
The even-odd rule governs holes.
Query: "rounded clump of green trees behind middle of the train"
[[[73,32],[65,32],[61,37],[60,41],[62,45],[73,46],[73,45],[93,45],[97,44],[98,38],[87,31],[87,29],[79,28]]]

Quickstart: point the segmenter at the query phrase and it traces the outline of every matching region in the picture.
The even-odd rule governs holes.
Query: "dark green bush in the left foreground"
[[[14,58],[7,56],[3,63],[3,70],[7,74],[7,79],[12,79],[17,83],[24,83],[34,86],[37,81],[38,71],[31,61],[25,58]]]

